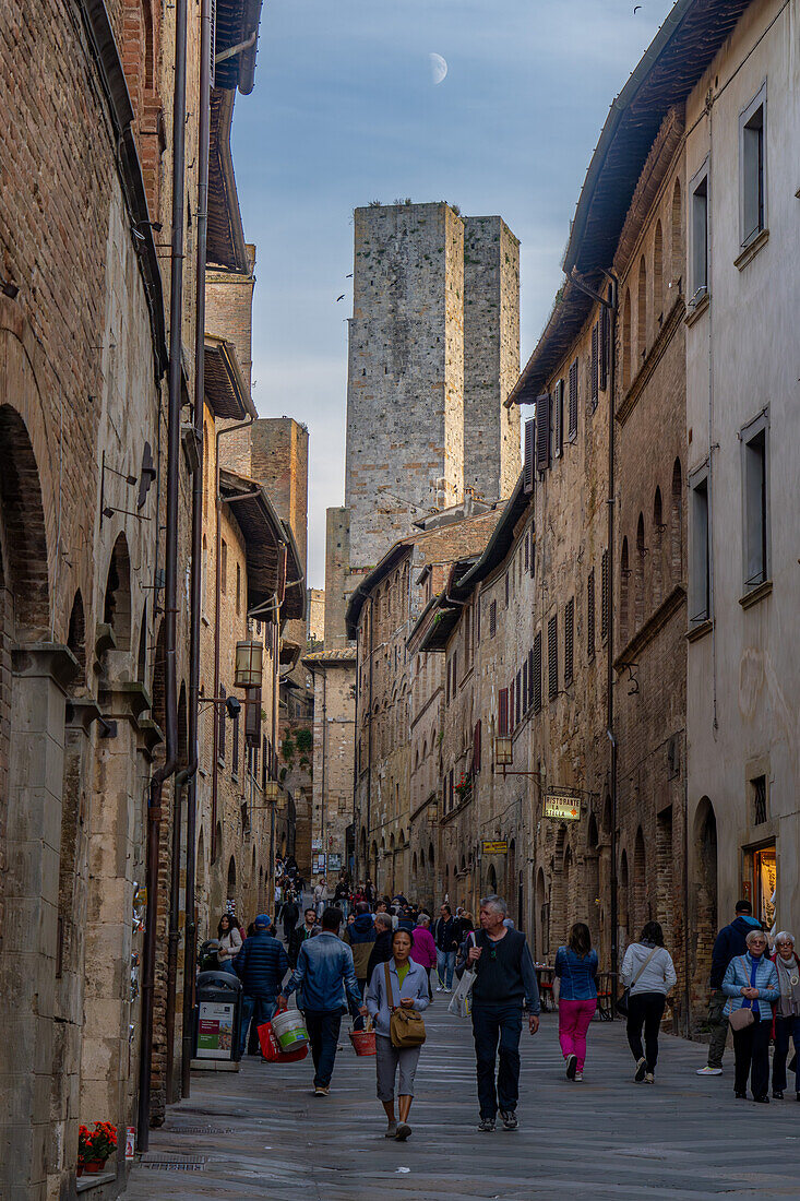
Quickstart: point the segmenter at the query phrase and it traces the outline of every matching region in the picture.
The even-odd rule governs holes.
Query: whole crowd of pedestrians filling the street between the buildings
[[[414,1078],[425,1041],[422,1014],[436,993],[456,1017],[468,1017],[476,1054],[482,1133],[518,1125],[520,1038],[539,1026],[539,991],[527,940],[514,928],[498,896],[480,902],[477,926],[446,900],[435,919],[402,895],[378,897],[370,880],[353,886],[341,877],[333,891],[320,878],[303,907],[297,865],[280,864],[275,919],[258,914],[246,933],[232,912],[222,914],[217,938],[204,944],[201,969],[233,972],[241,980],[239,1052],[259,1053],[257,1027],[294,996],[303,1011],[314,1064],[314,1092],[332,1087],[342,1016],[354,1029],[375,1032],[376,1092],[387,1118],[386,1135],[411,1134]],[[280,895],[279,895],[280,891]],[[280,919],[279,919],[280,915]],[[300,921],[302,916],[302,921]],[[282,940],[276,937],[279,920]],[[589,926],[575,922],[555,955],[554,999],[559,1042],[568,1081],[584,1078],[587,1039],[598,1005],[598,955]],[[625,950],[616,999],[626,1017],[637,1083],[655,1085],[658,1035],[676,982],[671,956],[657,921],[649,921]],[[717,1076],[730,1030],[734,1094],[782,1099],[787,1071],[796,1070],[800,1039],[800,958],[787,931],[771,939],[740,901],[715,942],[709,993],[708,1063],[698,1075]],[[249,1030],[249,1027],[252,1028]],[[790,1044],[794,1056],[789,1058]],[[796,1088],[800,1101],[800,1088]],[[395,1109],[396,1103],[396,1109]]]

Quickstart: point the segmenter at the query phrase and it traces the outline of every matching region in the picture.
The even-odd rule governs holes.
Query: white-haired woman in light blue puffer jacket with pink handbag
[[[724,1014],[734,1036],[736,1098],[747,1097],[747,1077],[753,1100],[769,1105],[770,1033],[772,1004],[781,996],[777,969],[766,955],[766,934],[751,930],[745,955],[734,955],[722,981],[728,1000]]]

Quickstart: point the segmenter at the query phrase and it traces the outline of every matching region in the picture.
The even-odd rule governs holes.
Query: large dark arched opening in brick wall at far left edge
[[[47,641],[50,603],[38,467],[25,423],[11,405],[0,405],[0,512],[4,587],[13,596],[11,637]]]

